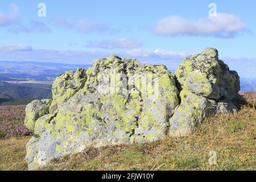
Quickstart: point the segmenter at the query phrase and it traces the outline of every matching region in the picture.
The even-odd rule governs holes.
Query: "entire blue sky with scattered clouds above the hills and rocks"
[[[217,16],[209,17],[209,3]],[[215,47],[231,69],[256,77],[255,7],[253,0],[0,1],[0,61],[90,64],[117,54],[173,70]]]

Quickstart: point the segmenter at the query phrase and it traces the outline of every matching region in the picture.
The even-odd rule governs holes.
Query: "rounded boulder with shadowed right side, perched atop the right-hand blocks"
[[[181,88],[214,100],[232,100],[240,91],[237,72],[218,60],[218,51],[205,48],[199,55],[188,56],[175,75]]]

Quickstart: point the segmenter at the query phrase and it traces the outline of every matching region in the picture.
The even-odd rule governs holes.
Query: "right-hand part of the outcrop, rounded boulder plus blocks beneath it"
[[[170,118],[171,136],[191,134],[210,114],[237,111],[232,100],[240,98],[240,78],[218,59],[217,49],[205,48],[198,55],[188,56],[175,75],[182,91],[181,104]]]

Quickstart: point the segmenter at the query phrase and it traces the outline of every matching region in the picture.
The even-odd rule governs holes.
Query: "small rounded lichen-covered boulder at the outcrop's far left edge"
[[[25,126],[34,131],[35,122],[43,115],[49,114],[49,106],[52,100],[35,100],[26,106]]]

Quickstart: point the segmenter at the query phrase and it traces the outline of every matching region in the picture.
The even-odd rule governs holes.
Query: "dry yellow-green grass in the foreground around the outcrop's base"
[[[0,140],[0,170],[27,169],[28,139]],[[210,165],[214,154],[216,164]],[[245,106],[236,114],[213,116],[184,138],[88,148],[43,170],[256,170],[256,110]]]

